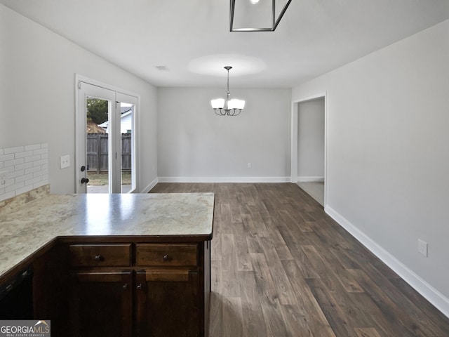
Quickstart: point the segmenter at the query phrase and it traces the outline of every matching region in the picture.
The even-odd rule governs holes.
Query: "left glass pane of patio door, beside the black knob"
[[[109,101],[86,99],[88,193],[109,193]]]

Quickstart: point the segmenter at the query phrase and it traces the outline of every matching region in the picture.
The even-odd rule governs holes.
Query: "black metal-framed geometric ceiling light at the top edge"
[[[274,32],[292,0],[277,0],[277,4],[276,0],[230,1],[231,32]]]

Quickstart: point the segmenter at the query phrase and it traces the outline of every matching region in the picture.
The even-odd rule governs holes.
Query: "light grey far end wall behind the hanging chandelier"
[[[159,178],[289,179],[290,90],[231,88],[232,97],[246,100],[238,117],[217,116],[210,107],[225,94],[225,87],[158,88]]]

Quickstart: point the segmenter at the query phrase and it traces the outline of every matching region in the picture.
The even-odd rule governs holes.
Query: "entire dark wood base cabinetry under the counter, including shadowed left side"
[[[210,241],[126,239],[67,237],[11,270],[32,267],[34,319],[55,337],[207,337]]]

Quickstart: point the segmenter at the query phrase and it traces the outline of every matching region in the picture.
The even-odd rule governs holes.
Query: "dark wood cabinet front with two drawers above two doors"
[[[209,242],[69,244],[68,251],[72,336],[208,336]]]

